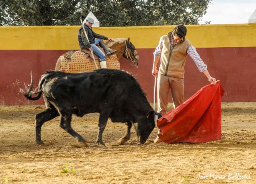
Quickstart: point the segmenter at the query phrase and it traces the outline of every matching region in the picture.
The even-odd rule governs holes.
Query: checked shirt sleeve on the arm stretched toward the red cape
[[[199,54],[196,52],[196,48],[194,46],[190,45],[188,47],[187,53],[190,56],[190,58],[192,58],[192,60],[194,61],[194,63],[196,64],[196,67],[200,72],[204,72],[205,70],[207,70],[207,65],[204,64],[203,60],[200,58]]]

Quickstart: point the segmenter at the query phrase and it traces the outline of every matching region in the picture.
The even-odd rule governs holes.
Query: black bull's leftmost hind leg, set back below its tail
[[[60,114],[56,110],[56,108],[48,108],[43,112],[36,114],[35,116],[35,132],[36,132],[36,143],[37,144],[44,144],[41,140],[41,127],[44,122],[52,120],[53,118],[59,116]]]

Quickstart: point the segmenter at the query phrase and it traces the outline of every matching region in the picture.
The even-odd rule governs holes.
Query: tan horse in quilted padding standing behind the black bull
[[[108,48],[111,48],[112,50],[117,50],[116,54],[112,56],[106,56],[106,60],[108,63],[108,68],[110,69],[120,69],[120,63],[119,60],[123,56],[128,60],[128,62],[132,65],[138,68],[138,61],[140,59],[140,56],[138,52],[136,51],[135,46],[130,42],[130,38],[113,38],[112,42],[107,42],[106,46]],[[80,63],[74,64],[72,63],[73,66],[69,66],[69,61],[72,60],[72,54],[76,55],[74,58],[82,58],[83,61],[79,61]],[[91,58],[89,56],[90,53],[88,52],[87,55],[86,53],[80,52],[80,51],[68,51],[65,54],[62,54],[58,58],[58,61],[55,66],[55,71],[61,70],[64,72],[69,72],[69,73],[76,73],[76,72],[84,72],[84,71],[92,71],[96,69],[95,65],[100,66],[99,60],[95,63],[95,65],[91,62]],[[110,62],[109,62],[110,60]],[[65,64],[62,64],[65,63]],[[62,66],[63,65],[63,66]],[[110,67],[109,67],[110,66]]]

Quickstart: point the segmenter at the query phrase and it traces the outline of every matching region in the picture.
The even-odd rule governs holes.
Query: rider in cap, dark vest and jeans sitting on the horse
[[[112,38],[107,38],[106,36],[97,34],[92,31],[92,24],[94,23],[94,20],[92,18],[87,18],[86,22],[84,23],[85,32],[88,36],[88,40],[86,38],[86,35],[84,34],[83,27],[81,26],[78,31],[78,41],[79,46],[82,50],[88,49],[89,51],[93,50],[93,53],[96,54],[96,56],[99,57],[100,60],[100,67],[101,68],[107,68],[106,63],[106,57],[105,54],[96,46],[96,44],[99,44],[100,47],[103,48],[106,55],[112,55],[115,54],[116,50],[111,50],[110,48],[107,48],[104,44],[103,40],[108,40],[109,42],[112,42]],[[95,39],[98,38],[98,39]]]

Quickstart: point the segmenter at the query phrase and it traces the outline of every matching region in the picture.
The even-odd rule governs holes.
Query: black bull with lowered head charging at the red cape
[[[32,76],[31,76],[32,79]],[[155,112],[136,79],[121,70],[98,69],[93,72],[68,74],[50,71],[42,75],[38,92],[30,89],[24,93],[29,100],[38,100],[44,94],[47,109],[36,114],[36,142],[41,140],[41,127],[44,122],[60,116],[60,127],[78,140],[77,147],[87,147],[86,140],[71,128],[72,114],[82,117],[84,114],[100,113],[96,142],[104,146],[102,133],[108,118],[112,122],[126,123],[126,134],[120,138],[123,144],[130,138],[130,128],[134,129],[141,144],[146,142],[161,117]],[[33,94],[38,94],[32,97]]]

